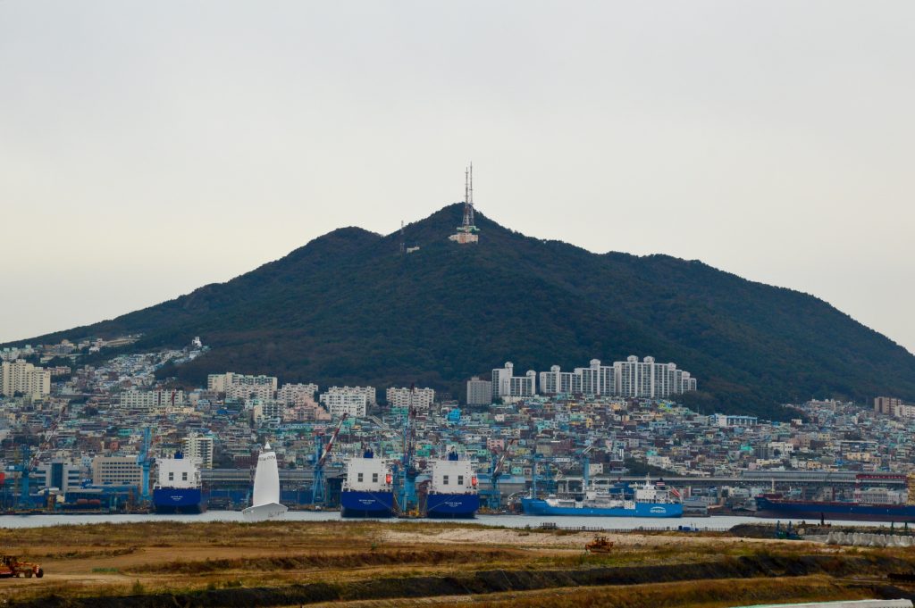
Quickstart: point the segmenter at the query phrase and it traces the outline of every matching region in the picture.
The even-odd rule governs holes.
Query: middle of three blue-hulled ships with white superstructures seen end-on
[[[391,517],[394,510],[391,464],[371,449],[346,463],[340,492],[341,517]]]

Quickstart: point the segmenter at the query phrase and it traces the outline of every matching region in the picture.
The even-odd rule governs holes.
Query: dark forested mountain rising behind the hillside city
[[[337,229],[228,283],[31,343],[142,333],[135,349],[201,336],[178,379],[237,371],[281,381],[431,386],[454,396],[511,360],[521,373],[629,355],[698,379],[703,411],[784,417],[812,397],[915,399],[915,357],[811,295],[700,261],[595,254],[477,214],[478,244],[447,240],[450,205],[399,232]]]

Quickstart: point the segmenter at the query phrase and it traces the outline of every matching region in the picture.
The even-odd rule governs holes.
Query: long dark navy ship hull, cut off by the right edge
[[[756,499],[756,517],[915,522],[915,506]]]

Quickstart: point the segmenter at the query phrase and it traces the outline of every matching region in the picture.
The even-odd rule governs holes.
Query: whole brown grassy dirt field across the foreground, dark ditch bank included
[[[905,597],[911,549],[724,534],[593,534],[453,523],[148,522],[0,530],[43,579],[0,580],[25,606],[727,606]],[[897,577],[899,578],[899,577]]]

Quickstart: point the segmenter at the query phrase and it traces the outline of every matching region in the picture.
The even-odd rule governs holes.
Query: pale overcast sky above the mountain
[[[913,66],[908,0],[0,0],[0,342],[392,232],[472,160],[512,229],[915,351]]]

